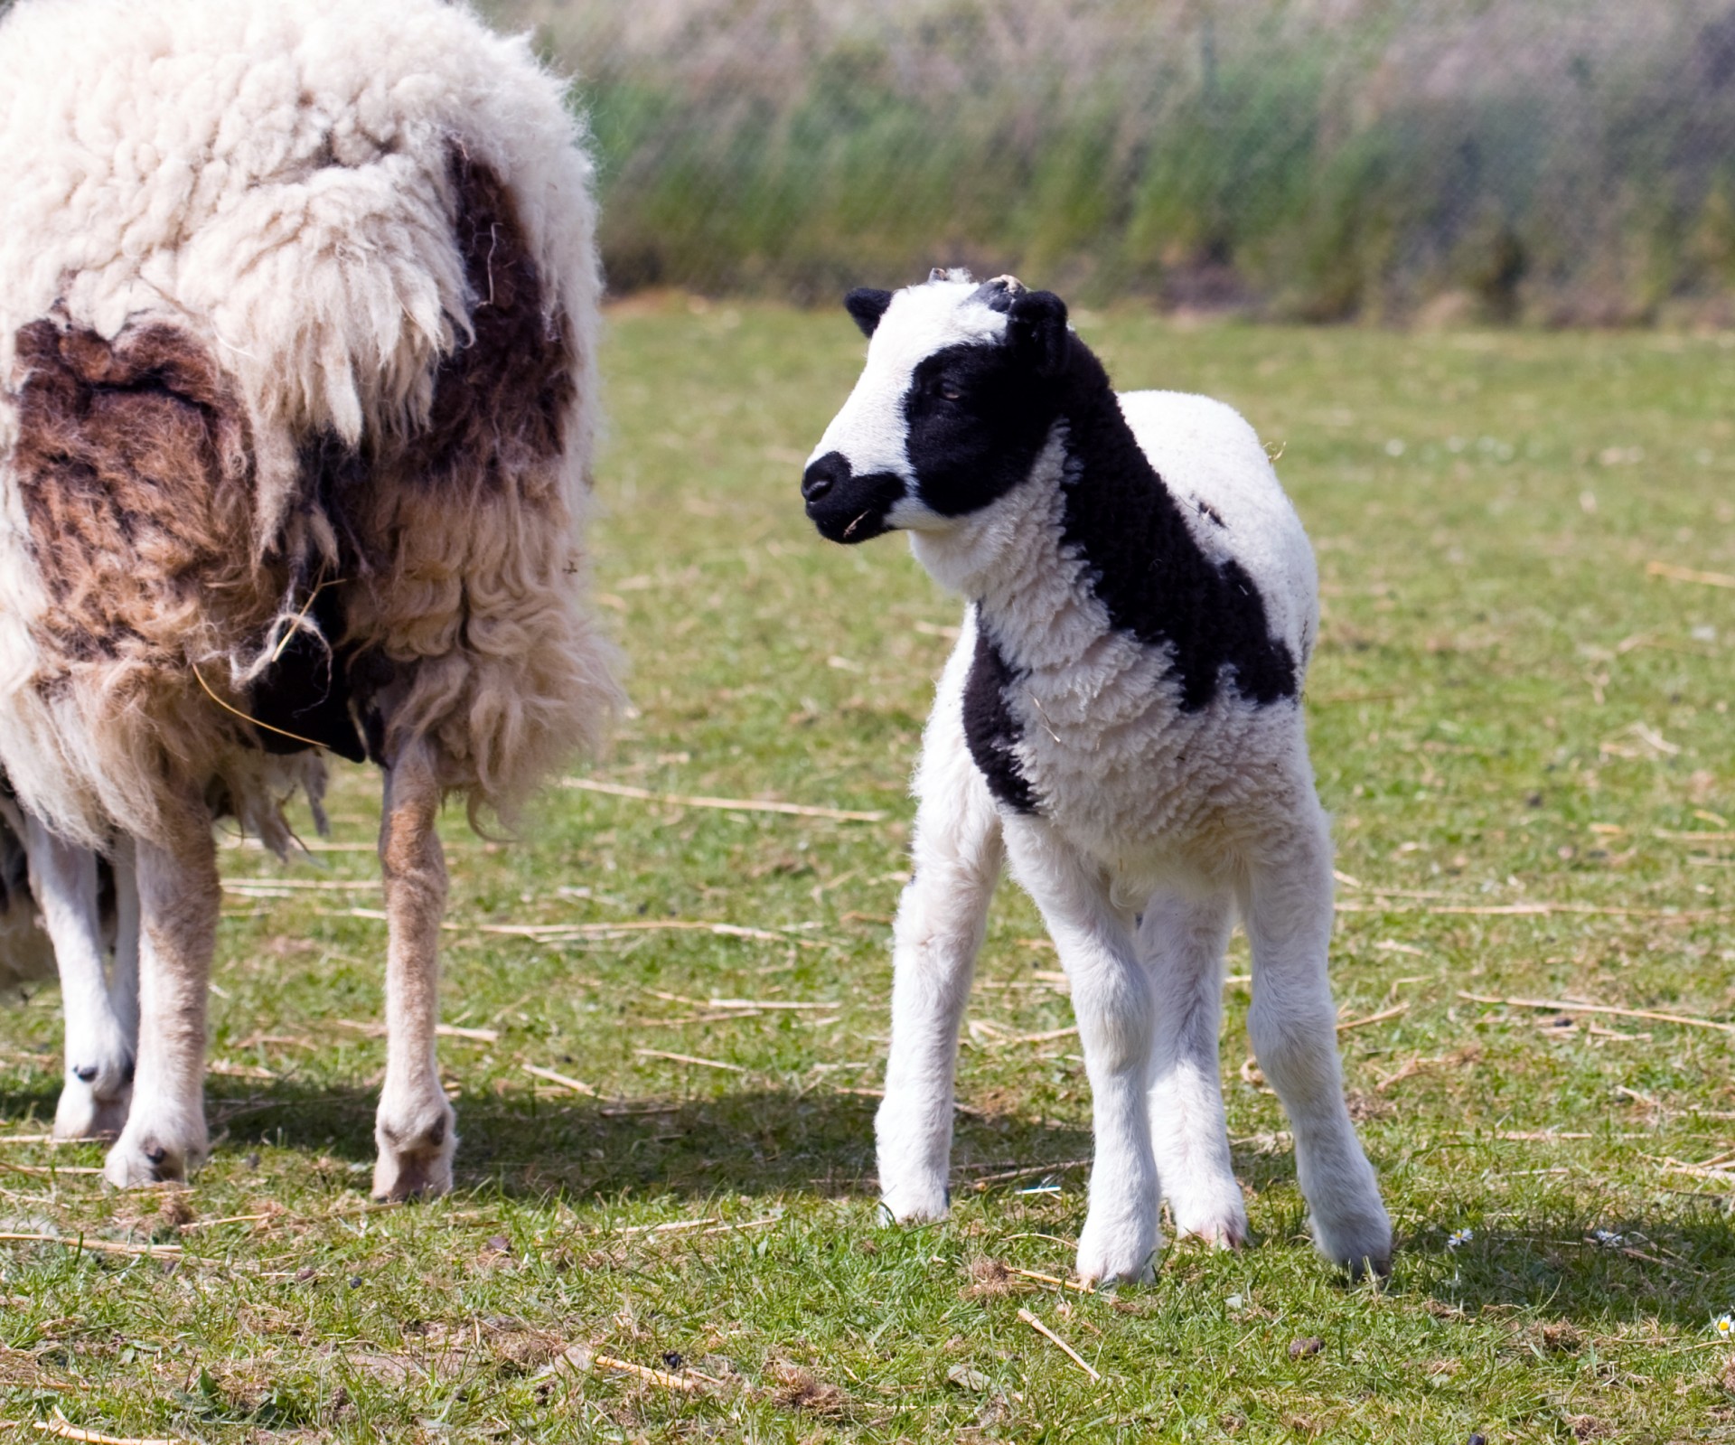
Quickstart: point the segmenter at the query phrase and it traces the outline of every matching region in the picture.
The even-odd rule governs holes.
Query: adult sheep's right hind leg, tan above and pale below
[[[409,744],[385,770],[380,871],[390,938],[385,954],[385,1088],[373,1138],[375,1199],[451,1188],[456,1114],[439,1082],[439,925],[446,859],[435,822],[441,789],[427,742]]]

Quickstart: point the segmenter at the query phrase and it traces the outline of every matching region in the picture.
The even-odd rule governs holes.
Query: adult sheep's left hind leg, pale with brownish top
[[[132,1108],[102,1169],[130,1188],[184,1180],[208,1147],[205,996],[217,912],[217,845],[201,801],[186,801],[163,841],[134,843],[139,909],[139,1067]],[[118,881],[118,879],[116,879]],[[121,885],[121,900],[127,899]],[[125,933],[123,907],[121,932]],[[116,968],[123,940],[116,944]]]

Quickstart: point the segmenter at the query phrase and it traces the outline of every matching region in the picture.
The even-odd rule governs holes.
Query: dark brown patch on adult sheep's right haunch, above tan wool
[[[498,496],[560,454],[573,356],[564,317],[543,307],[541,274],[505,182],[456,146],[448,180],[472,337],[441,361],[427,423],[408,441],[403,468],[411,484]]]

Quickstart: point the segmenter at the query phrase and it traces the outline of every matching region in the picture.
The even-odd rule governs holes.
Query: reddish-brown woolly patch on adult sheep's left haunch
[[[49,598],[45,652],[163,664],[200,640],[194,618],[262,626],[246,411],[205,347],[161,321],[108,340],[40,319],[19,330],[17,359],[12,465]]]

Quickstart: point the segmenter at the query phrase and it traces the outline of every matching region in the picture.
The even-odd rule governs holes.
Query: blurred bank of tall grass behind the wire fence
[[[616,291],[1735,321],[1735,0],[493,0]]]

